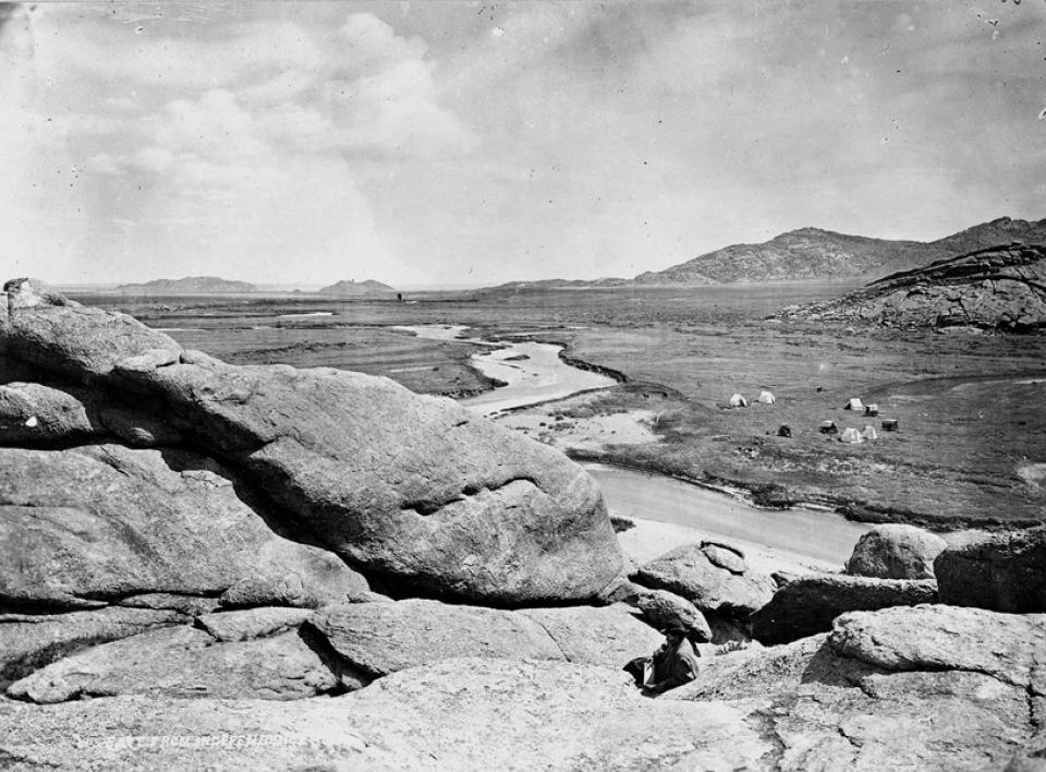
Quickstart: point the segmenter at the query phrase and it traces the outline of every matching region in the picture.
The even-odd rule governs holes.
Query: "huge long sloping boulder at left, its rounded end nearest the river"
[[[360,373],[227,365],[38,282],[5,289],[0,353],[115,402],[161,401],[185,444],[390,586],[527,605],[595,598],[621,570],[595,482],[451,400]]]

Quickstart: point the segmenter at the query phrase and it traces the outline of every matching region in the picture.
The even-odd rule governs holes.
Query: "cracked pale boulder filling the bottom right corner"
[[[1044,660],[1046,616],[896,607],[715,658],[659,701],[765,700],[749,715],[778,740],[763,769],[1001,770],[1046,739]]]

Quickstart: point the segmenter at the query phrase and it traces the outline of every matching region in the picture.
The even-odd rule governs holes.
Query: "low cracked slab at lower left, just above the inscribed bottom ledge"
[[[291,700],[340,688],[296,631],[218,643],[180,626],[73,654],[15,681],[8,695],[41,703],[114,695]]]

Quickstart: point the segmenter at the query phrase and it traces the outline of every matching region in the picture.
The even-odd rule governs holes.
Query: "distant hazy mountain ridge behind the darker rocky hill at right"
[[[491,290],[874,279],[1014,241],[1046,243],[1046,219],[1031,222],[1000,217],[929,242],[872,239],[819,228],[801,228],[762,244],[726,246],[665,270],[640,274],[634,279],[513,281]]]

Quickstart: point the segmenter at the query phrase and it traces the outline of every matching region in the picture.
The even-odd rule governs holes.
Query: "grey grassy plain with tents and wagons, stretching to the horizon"
[[[862,520],[937,528],[1046,520],[1046,337],[768,318],[851,288],[557,290],[403,303],[80,299],[175,328],[183,345],[227,361],[360,370],[430,394],[469,394],[489,383],[467,366],[469,345],[391,326],[469,325],[495,339],[525,333],[628,378],[567,408],[572,414],[654,415],[658,442],[587,443],[576,457],[734,484],[765,504],[820,503]],[[755,403],[761,388],[777,403]],[[726,408],[734,391],[751,407]],[[879,418],[844,411],[850,397],[878,403]],[[883,432],[883,418],[896,419],[900,431]],[[871,423],[878,439],[843,445],[817,432],[824,420],[840,429]],[[781,424],[791,437],[776,436]]]

